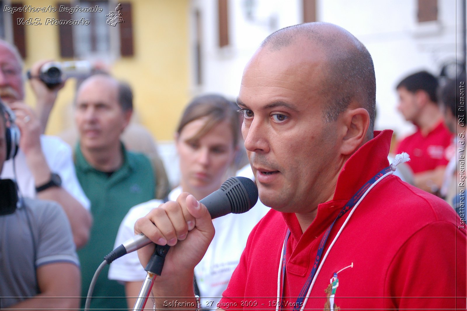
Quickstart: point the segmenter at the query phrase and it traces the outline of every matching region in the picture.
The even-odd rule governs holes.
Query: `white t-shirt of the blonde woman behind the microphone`
[[[175,188],[170,192],[169,200],[175,201],[180,193],[181,188]],[[144,217],[161,203],[160,200],[151,200],[131,208],[120,224],[115,247],[133,237],[136,220]],[[195,267],[202,308],[216,309],[216,304],[222,297],[222,292],[227,288],[233,270],[240,261],[250,231],[268,211],[269,207],[258,200],[258,203],[246,213],[227,214],[212,220],[216,231],[214,239],[203,259]],[[143,281],[146,275],[137,253],[133,252],[110,264],[108,278],[123,282],[136,282]]]

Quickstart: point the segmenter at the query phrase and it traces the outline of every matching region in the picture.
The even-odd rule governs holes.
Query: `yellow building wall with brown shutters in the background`
[[[180,114],[190,99],[189,0],[124,2],[132,3],[134,56],[116,59],[110,71],[133,87],[134,108],[140,123],[157,140],[171,140]],[[33,7],[51,5],[58,9],[57,1],[23,0],[22,3]],[[58,18],[58,12],[25,13],[25,19],[29,17],[33,20],[40,18],[42,25],[25,26],[25,69],[41,59],[70,60],[60,58],[59,26],[44,24],[48,17]],[[125,19],[125,16],[122,17]],[[109,28],[117,31],[116,27]],[[70,79],[59,93],[56,107],[50,115],[47,134],[58,134],[72,126],[70,107],[74,94],[75,81]],[[28,83],[26,102],[35,105],[35,97]]]

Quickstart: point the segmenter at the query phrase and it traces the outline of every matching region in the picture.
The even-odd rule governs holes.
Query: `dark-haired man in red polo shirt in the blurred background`
[[[417,131],[405,137],[397,146],[397,152],[410,155],[414,183],[420,189],[436,194],[443,181],[449,162],[446,148],[452,134],[443,123],[437,98],[438,80],[426,71],[416,72],[404,78],[396,87],[399,95],[397,109],[405,120],[417,127]]]

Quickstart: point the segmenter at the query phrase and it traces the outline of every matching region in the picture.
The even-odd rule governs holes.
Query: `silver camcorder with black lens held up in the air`
[[[50,89],[57,87],[67,78],[85,78],[92,73],[92,65],[87,60],[49,62],[39,70],[39,79]],[[31,72],[28,71],[28,79]]]

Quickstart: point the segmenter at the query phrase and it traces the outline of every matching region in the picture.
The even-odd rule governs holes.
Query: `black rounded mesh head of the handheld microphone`
[[[246,177],[231,177],[224,181],[220,189],[226,193],[234,214],[247,212],[258,201],[258,188],[254,181]]]

